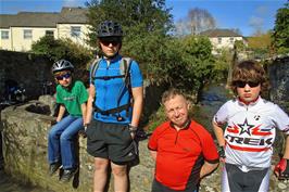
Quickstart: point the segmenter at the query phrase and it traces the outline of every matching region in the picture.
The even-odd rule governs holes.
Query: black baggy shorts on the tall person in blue
[[[125,165],[138,156],[138,148],[131,139],[128,125],[92,120],[86,133],[87,152],[95,157]]]

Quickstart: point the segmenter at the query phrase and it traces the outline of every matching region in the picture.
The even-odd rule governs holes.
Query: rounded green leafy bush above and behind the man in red
[[[205,84],[213,79],[212,44],[206,37],[172,38],[162,47],[151,69],[154,81],[183,89],[198,103]]]

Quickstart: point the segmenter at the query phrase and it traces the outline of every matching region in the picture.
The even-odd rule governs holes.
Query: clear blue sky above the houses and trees
[[[85,7],[90,0],[1,0],[0,14],[29,12],[60,12],[62,7]],[[166,0],[174,22],[184,20],[190,9],[206,10],[217,28],[238,28],[242,36],[251,36],[256,28],[273,29],[275,15],[287,0]],[[1,21],[0,21],[1,22]]]

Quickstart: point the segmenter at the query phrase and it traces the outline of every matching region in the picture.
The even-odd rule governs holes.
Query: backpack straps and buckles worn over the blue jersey
[[[124,110],[126,110],[126,116],[128,116],[128,111],[129,111],[129,106],[131,105],[131,98],[133,98],[133,91],[131,91],[131,81],[130,81],[130,66],[131,66],[131,62],[133,60],[130,57],[122,57],[121,63],[120,63],[120,72],[121,75],[117,76],[101,76],[101,77],[97,77],[96,73],[98,71],[99,64],[102,61],[101,57],[98,57],[96,60],[92,61],[92,64],[90,65],[90,79],[92,81],[95,81],[96,79],[103,79],[103,80],[110,80],[112,78],[123,78],[125,87],[128,90],[129,97],[128,97],[128,101],[126,104],[120,106],[120,102],[122,99],[122,91],[120,91],[118,93],[118,99],[117,99],[117,106],[115,108],[111,108],[111,110],[106,110],[106,111],[102,111],[100,110],[96,104],[95,104],[95,112],[100,113],[102,115],[109,115],[109,114],[116,114],[116,119],[118,121],[124,120],[124,118],[120,115],[120,113]]]

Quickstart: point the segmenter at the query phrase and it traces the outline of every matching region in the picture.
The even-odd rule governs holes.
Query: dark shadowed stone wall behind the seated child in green
[[[32,53],[0,50],[0,95],[4,91],[4,81],[12,79],[23,85],[28,98],[38,98],[42,93],[42,84],[53,81],[51,63]]]

